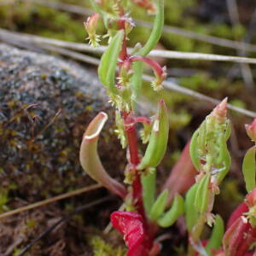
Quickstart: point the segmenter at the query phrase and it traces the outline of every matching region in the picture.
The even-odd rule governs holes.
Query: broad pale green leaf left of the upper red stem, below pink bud
[[[113,94],[117,91],[114,79],[123,38],[124,32],[122,30],[115,34],[108,45],[108,49],[102,55],[102,60],[98,68],[100,81],[107,86],[108,90]]]

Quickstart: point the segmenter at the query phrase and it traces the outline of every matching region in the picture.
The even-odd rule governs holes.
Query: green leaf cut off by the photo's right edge
[[[255,188],[255,172],[256,172],[256,163],[255,163],[255,153],[256,146],[253,146],[247,151],[243,162],[242,162],[242,173],[246,183],[247,192],[251,192]]]

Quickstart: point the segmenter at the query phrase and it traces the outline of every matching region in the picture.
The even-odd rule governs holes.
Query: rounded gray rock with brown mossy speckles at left
[[[91,182],[79,165],[81,137],[96,113],[113,119],[96,78],[73,62],[0,44],[2,189],[38,197]],[[108,121],[99,148],[106,169],[117,176],[125,155],[112,125]]]

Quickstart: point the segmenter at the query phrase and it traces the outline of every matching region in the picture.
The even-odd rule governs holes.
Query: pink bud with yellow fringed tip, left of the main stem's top
[[[100,36],[96,34],[96,26],[98,23],[98,20],[100,18],[100,15],[95,14],[95,15],[91,15],[86,22],[84,22],[84,27],[85,30],[88,32],[88,38],[89,39],[89,44],[96,48],[99,46],[99,42],[100,40]]]

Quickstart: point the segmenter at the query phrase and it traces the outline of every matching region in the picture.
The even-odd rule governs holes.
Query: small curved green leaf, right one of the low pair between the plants
[[[162,217],[157,220],[157,223],[162,228],[172,226],[177,221],[177,218],[184,212],[184,202],[181,195],[175,195],[172,207],[168,212],[165,212]]]

